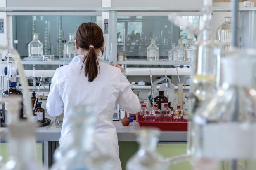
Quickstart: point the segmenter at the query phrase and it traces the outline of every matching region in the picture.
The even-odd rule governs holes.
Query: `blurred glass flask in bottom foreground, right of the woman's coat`
[[[168,170],[168,163],[156,151],[159,135],[157,128],[141,128],[137,132],[140,147],[128,160],[126,170]]]

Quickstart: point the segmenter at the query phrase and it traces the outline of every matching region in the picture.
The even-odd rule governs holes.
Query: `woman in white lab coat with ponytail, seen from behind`
[[[78,56],[69,65],[57,68],[47,101],[47,112],[58,116],[64,109],[59,139],[60,147],[68,140],[70,128],[67,117],[74,105],[98,105],[95,135],[115,160],[115,170],[121,170],[116,128],[112,117],[118,102],[130,113],[140,111],[140,103],[131,85],[120,71],[97,58],[104,49],[102,30],[95,23],[82,23],[76,32]],[[122,69],[121,69],[122,70]]]

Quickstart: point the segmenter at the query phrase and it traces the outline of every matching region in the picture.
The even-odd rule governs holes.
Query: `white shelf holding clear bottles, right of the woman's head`
[[[127,60],[127,61],[117,61],[117,64],[126,65],[190,65],[187,61],[147,61],[147,60]]]

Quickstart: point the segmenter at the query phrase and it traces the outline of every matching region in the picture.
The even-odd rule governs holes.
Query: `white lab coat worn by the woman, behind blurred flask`
[[[71,115],[74,105],[98,105],[98,120],[95,123],[95,136],[100,139],[107,153],[115,160],[115,170],[121,170],[116,128],[113,125],[115,101],[130,113],[140,111],[138,97],[133,94],[131,85],[119,68],[104,63],[99,58],[100,73],[93,82],[88,82],[81,66],[84,56],[76,56],[69,65],[57,68],[47,101],[50,116],[59,116],[64,109],[60,147],[69,140]]]

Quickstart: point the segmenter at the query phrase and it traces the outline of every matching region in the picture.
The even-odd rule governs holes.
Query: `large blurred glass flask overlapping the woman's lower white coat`
[[[51,170],[113,170],[113,159],[94,148],[94,124],[96,107],[79,105],[73,107],[68,117],[70,140],[60,149],[60,156]]]

